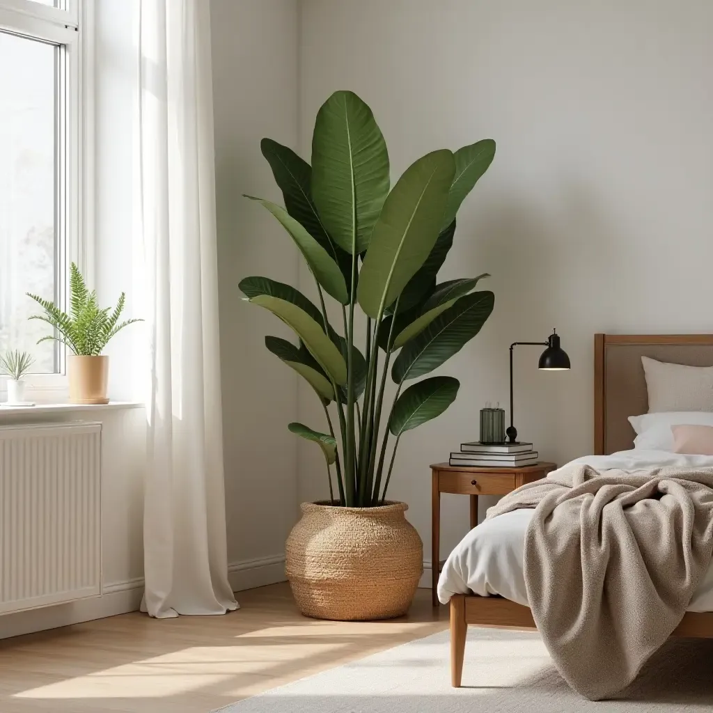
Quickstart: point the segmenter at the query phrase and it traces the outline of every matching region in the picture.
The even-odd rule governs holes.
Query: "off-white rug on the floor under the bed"
[[[539,635],[468,631],[463,688],[442,632],[220,709],[222,713],[682,713],[713,710],[713,640],[671,640],[616,701],[575,694]]]

